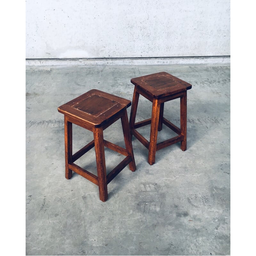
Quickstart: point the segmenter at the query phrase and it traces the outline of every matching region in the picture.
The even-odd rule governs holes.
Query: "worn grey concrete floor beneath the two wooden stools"
[[[65,179],[63,103],[96,88],[132,100],[130,79],[166,71],[192,84],[187,151],[156,152],[133,137],[137,170],[98,187]],[[152,104],[140,96],[137,121]],[[130,116],[130,108],[127,109]],[[179,125],[179,100],[164,116]],[[150,126],[140,128],[149,138]],[[172,137],[164,126],[158,140]],[[124,147],[121,122],[104,138]],[[73,125],[74,151],[93,139]],[[107,172],[123,156],[106,149]],[[94,149],[76,162],[96,172]],[[230,66],[159,65],[26,68],[26,255],[230,255]]]

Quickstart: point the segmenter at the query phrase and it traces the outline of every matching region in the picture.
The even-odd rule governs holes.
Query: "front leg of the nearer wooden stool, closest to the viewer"
[[[107,186],[107,173],[106,173],[102,127],[95,128],[93,135],[94,135],[94,143],[95,143],[95,155],[96,155],[100,200],[105,202],[108,199],[108,186]]]

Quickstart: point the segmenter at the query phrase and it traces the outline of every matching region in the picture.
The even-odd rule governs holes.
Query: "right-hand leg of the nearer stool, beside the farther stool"
[[[133,155],[132,140],[130,136],[129,122],[128,122],[126,109],[124,111],[124,115],[121,117],[121,122],[122,122],[123,133],[124,133],[125,148],[128,155],[132,157],[132,161],[129,163],[129,168],[132,172],[134,172],[136,170],[136,164],[135,164],[134,155]]]

